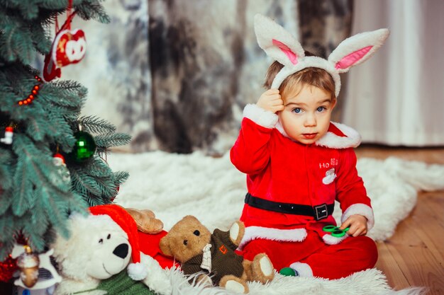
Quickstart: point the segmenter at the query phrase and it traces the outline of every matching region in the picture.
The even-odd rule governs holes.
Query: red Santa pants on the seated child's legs
[[[267,253],[278,271],[294,262],[306,263],[314,277],[327,279],[339,279],[372,268],[378,258],[376,244],[367,236],[349,237],[337,245],[327,245],[313,232],[302,242],[252,240],[238,253],[247,260]]]

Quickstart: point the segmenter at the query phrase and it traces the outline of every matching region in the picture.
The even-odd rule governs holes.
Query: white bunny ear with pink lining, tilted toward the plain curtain
[[[331,52],[328,62],[332,62],[339,73],[345,73],[352,66],[370,59],[374,52],[384,44],[387,37],[389,37],[387,29],[359,33],[349,37],[340,42],[340,45]]]

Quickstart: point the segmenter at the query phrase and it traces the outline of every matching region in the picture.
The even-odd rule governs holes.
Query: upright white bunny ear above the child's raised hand
[[[304,50],[296,38],[267,16],[255,15],[255,33],[265,53],[284,66],[294,66],[304,57]]]

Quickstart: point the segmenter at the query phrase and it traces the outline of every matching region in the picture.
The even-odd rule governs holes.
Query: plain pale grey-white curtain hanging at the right
[[[343,122],[362,141],[444,146],[443,0],[357,0],[353,33],[389,28],[370,62],[350,71]]]

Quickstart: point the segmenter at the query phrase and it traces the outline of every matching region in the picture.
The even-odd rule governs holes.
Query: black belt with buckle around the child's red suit
[[[335,204],[324,203],[311,207],[309,205],[273,202],[267,199],[253,197],[249,192],[245,196],[245,204],[248,204],[251,207],[279,213],[312,216],[316,221],[327,218],[328,215],[333,214],[333,210],[335,209]]]

